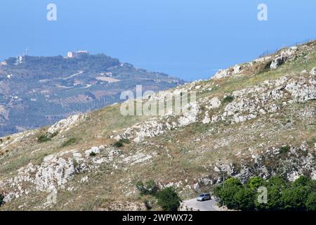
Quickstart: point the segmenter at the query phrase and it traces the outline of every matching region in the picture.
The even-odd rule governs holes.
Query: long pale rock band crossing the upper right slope
[[[168,115],[162,119],[154,118],[136,124],[115,136],[115,139],[129,139],[139,143],[146,138],[159,136],[165,131],[196,122],[207,124],[225,121],[235,124],[252,120],[259,115],[275,113],[287,104],[303,103],[315,99],[316,81],[315,77],[284,76],[274,81],[265,81],[253,88],[234,91],[232,96],[234,100],[225,105],[225,108],[220,108],[221,102],[217,97],[203,98],[185,105],[185,108],[190,107],[191,110],[186,111],[183,116]],[[207,110],[201,110],[202,107]],[[218,108],[220,108],[219,111]]]

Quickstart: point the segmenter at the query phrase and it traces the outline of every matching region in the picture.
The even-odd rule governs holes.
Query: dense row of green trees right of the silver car
[[[266,188],[266,201],[261,200],[264,194],[261,187]],[[300,176],[293,182],[282,176],[272,176],[268,180],[254,176],[242,184],[237,178],[229,178],[224,185],[214,188],[214,196],[232,210],[315,211],[316,181],[308,176]]]

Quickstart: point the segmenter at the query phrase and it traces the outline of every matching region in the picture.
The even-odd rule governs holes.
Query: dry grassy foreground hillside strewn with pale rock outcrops
[[[312,41],[143,100],[196,91],[180,115],[124,116],[117,104],[6,136],[1,210],[145,210],[136,182],[149,179],[183,199],[223,174],[316,179],[315,75]]]

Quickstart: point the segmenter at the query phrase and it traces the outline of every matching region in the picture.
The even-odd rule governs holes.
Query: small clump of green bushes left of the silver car
[[[180,206],[180,198],[174,188],[163,188],[159,190],[157,184],[153,180],[138,181],[136,188],[140,192],[140,195],[152,195],[157,199],[157,205],[159,205],[164,211],[177,211]],[[152,208],[148,200],[144,201],[145,206],[149,210]]]

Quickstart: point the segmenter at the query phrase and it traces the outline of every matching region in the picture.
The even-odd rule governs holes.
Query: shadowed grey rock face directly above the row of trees
[[[291,155],[295,155],[291,158]],[[280,161],[280,159],[282,159]],[[265,164],[274,162],[273,167]],[[251,167],[249,167],[251,165]],[[264,155],[254,155],[250,162],[238,165],[220,163],[213,169],[213,176],[204,176],[198,178],[198,183],[193,188],[199,192],[201,188],[213,184],[221,184],[223,182],[223,174],[225,177],[233,176],[243,183],[248,181],[251,176],[261,176],[267,179],[275,174],[281,174],[287,177],[289,181],[295,181],[302,174],[310,174],[312,179],[316,179],[316,162],[315,154],[312,150],[308,150],[305,143],[301,146],[291,147],[288,153],[281,153],[279,148],[267,148]]]

